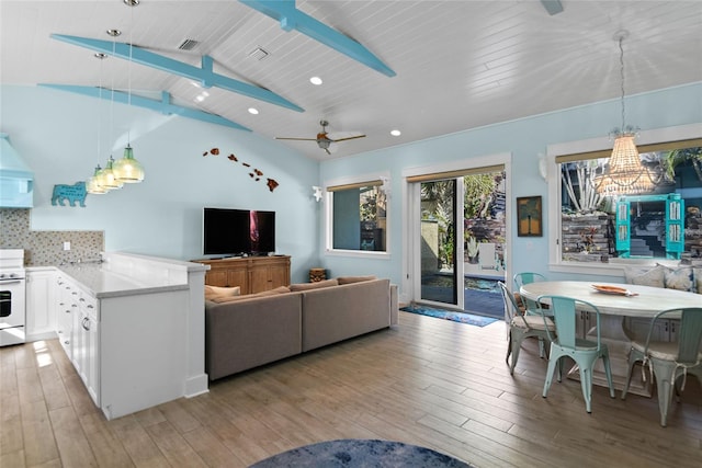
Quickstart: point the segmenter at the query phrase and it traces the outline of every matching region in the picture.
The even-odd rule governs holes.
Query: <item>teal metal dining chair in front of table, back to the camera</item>
[[[543,304],[548,304],[551,307],[544,310]],[[582,388],[582,398],[585,398],[585,409],[588,413],[592,412],[592,369],[599,358],[602,359],[602,364],[604,365],[610,397],[614,398],[610,353],[607,344],[602,343],[600,336],[599,309],[585,300],[550,295],[540,296],[536,299],[536,305],[544,323],[547,323],[546,320],[548,317],[545,315],[547,313],[553,317],[553,321],[556,324],[555,335],[546,328],[548,341],[551,341],[551,352],[542,397],[546,398],[548,395],[556,366],[558,366],[558,381],[561,381],[563,378],[563,361],[565,357],[570,357],[575,361],[580,373],[580,387]],[[581,310],[590,312],[591,317],[596,317],[596,341],[581,339],[576,334],[576,318]]]

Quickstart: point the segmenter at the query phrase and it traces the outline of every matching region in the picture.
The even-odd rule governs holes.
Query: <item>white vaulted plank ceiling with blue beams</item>
[[[0,0],[0,82],[102,83],[324,160],[619,99],[621,30],[627,95],[702,80],[698,0],[138,3]]]

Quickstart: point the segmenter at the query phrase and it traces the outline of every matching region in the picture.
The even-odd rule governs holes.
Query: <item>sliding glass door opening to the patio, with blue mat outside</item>
[[[412,300],[499,315],[506,269],[503,165],[408,178]]]

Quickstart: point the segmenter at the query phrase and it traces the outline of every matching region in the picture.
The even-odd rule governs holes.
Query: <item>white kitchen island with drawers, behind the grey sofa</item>
[[[207,391],[207,265],[128,253],[58,267],[57,333],[110,420]]]

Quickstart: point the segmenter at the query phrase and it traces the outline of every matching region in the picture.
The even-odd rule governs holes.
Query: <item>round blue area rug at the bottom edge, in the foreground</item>
[[[283,452],[253,464],[250,468],[274,467],[471,468],[471,465],[417,445],[392,441],[344,438]]]

